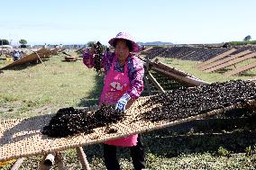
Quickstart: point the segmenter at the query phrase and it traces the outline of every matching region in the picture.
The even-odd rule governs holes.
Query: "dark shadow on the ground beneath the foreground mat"
[[[142,134],[146,154],[177,157],[181,153],[217,154],[220,147],[244,153],[256,143],[256,115],[242,118],[196,120]],[[84,147],[88,161],[103,157],[101,144]],[[119,148],[118,157],[131,159],[128,148]]]

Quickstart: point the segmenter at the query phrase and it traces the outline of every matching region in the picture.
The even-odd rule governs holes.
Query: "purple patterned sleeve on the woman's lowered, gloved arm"
[[[130,94],[132,100],[136,100],[140,97],[144,88],[144,67],[140,58],[133,57],[132,62],[133,64],[129,73],[131,88],[127,91],[127,94]]]

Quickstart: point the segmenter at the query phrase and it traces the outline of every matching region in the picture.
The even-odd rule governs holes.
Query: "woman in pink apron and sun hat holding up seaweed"
[[[108,43],[114,47],[114,53],[107,51],[102,59],[105,80],[100,104],[115,104],[115,109],[124,112],[142,94],[143,64],[141,59],[132,54],[132,52],[138,52],[140,48],[126,32],[119,32]],[[87,67],[94,67],[94,53],[95,49],[90,49],[84,53],[83,61]],[[105,141],[104,158],[108,170],[120,169],[116,157],[116,147],[129,147],[134,169],[142,170],[145,168],[144,148],[140,134]]]

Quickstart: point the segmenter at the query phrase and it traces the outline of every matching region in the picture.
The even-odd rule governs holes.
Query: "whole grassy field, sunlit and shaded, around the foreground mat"
[[[8,64],[3,56],[0,58],[0,67]],[[76,62],[63,60],[63,57],[53,56],[44,61],[45,66],[28,64],[3,70],[0,73],[0,119],[32,117],[54,113],[63,107],[96,104],[103,87],[103,76],[85,67],[81,58]],[[210,83],[256,76],[256,69],[241,76],[227,77],[221,73],[198,71],[194,61],[172,58],[160,58],[160,61]],[[255,169],[255,132],[254,124],[245,123],[223,126],[220,130],[176,131],[169,128],[145,133],[146,164],[148,169]],[[87,146],[85,150],[92,169],[104,169],[102,146]],[[74,149],[64,151],[63,155],[69,169],[81,168]],[[129,150],[120,149],[119,156],[123,169],[132,169]],[[22,169],[34,169],[40,158],[29,157]]]

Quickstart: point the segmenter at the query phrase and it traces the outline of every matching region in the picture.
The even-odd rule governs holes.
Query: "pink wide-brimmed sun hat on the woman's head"
[[[111,40],[108,40],[108,43],[111,46],[114,46],[114,41],[118,40],[118,39],[130,40],[132,42],[132,44],[133,44],[133,52],[139,52],[140,51],[140,46],[135,42],[133,37],[129,33],[127,33],[127,32],[119,32],[119,33],[117,33],[115,38],[113,38]]]

